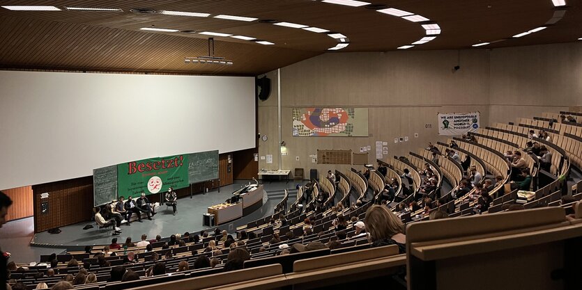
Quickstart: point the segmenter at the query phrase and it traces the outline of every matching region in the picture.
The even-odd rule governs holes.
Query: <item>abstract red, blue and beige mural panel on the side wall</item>
[[[292,115],[293,136],[368,136],[368,108],[293,108]]]

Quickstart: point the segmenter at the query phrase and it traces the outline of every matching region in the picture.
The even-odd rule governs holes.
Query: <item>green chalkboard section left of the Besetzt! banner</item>
[[[93,205],[117,199],[117,166],[93,169]]]

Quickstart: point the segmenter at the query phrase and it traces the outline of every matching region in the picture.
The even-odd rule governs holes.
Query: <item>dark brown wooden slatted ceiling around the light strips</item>
[[[483,48],[572,42],[582,37],[580,1],[566,0],[565,17],[548,29],[519,39],[511,36],[534,29],[554,12],[551,0],[385,0],[374,3],[418,13],[438,23],[443,33],[413,49],[467,49],[479,42]],[[389,51],[424,37],[419,23],[366,8],[339,6],[310,0],[162,0],[162,1],[24,1],[2,5],[51,5],[121,8],[123,12],[10,11],[0,8],[0,67],[62,70],[111,70],[187,74],[261,74],[327,52],[337,40],[259,22],[239,22],[213,17],[138,14],[131,8],[178,10],[238,15],[294,22],[336,31],[348,36],[342,51]],[[235,65],[186,65],[185,56],[204,56],[207,35],[158,33],[141,27],[215,31],[246,35],[275,42],[273,46],[234,38],[215,38],[215,54]]]

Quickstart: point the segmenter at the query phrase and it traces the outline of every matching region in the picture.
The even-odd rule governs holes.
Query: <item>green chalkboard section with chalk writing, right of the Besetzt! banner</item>
[[[188,154],[188,182],[218,179],[218,150]]]

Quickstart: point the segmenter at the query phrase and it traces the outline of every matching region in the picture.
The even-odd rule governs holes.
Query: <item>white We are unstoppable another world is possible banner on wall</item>
[[[476,132],[480,127],[480,113],[438,113],[438,135],[459,136]]]

